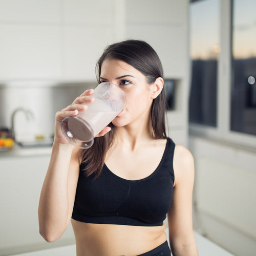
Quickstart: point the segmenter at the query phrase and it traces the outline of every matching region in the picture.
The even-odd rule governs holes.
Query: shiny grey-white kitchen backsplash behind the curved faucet
[[[14,117],[18,141],[49,139],[54,134],[55,113],[73,102],[96,82],[15,81],[0,83],[0,127],[11,128],[12,113],[22,108],[32,115],[17,111]]]

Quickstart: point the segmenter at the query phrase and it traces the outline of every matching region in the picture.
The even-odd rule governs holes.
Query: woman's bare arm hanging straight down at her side
[[[194,159],[180,145],[175,148],[174,170],[173,202],[168,211],[170,247],[174,256],[198,256],[192,220]]]

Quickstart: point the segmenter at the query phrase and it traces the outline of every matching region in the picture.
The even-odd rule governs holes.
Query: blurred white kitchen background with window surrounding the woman
[[[0,255],[75,251],[70,226],[51,244],[38,233],[54,115],[124,39],[162,61],[169,137],[195,158],[200,255],[255,255],[255,13],[249,0],[0,0]]]

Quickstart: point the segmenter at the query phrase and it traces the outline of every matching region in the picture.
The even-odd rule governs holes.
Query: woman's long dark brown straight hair
[[[126,62],[145,75],[148,84],[152,84],[158,77],[163,78],[161,61],[155,50],[141,40],[125,40],[105,48],[96,65],[96,75],[99,81],[101,66],[104,60],[117,59]],[[157,98],[153,99],[151,106],[152,135],[154,139],[166,139],[165,131],[166,102],[164,88]],[[81,168],[86,175],[100,175],[104,164],[106,152],[111,147],[115,126],[111,123],[111,131],[103,137],[97,137],[92,147],[82,150]]]

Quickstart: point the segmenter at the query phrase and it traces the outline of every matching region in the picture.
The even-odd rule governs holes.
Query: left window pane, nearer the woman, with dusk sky
[[[189,121],[216,126],[219,0],[190,4]]]

